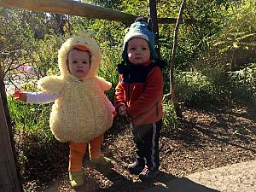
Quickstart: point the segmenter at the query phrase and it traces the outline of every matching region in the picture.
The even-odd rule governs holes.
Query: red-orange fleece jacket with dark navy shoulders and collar
[[[131,122],[136,125],[154,123],[163,117],[163,75],[161,68],[148,61],[144,65],[128,63],[119,70],[119,84],[115,89],[114,106],[127,107]]]

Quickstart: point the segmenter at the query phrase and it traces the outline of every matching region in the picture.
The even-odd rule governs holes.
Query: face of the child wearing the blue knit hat
[[[143,38],[131,38],[127,46],[129,61],[136,65],[142,65],[150,59],[148,42]]]

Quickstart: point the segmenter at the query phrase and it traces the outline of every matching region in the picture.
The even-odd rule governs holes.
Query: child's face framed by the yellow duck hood
[[[83,79],[90,70],[90,54],[88,51],[72,49],[68,53],[68,69],[78,79]]]

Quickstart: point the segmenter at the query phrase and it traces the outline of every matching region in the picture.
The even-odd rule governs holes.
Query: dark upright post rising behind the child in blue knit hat
[[[155,50],[157,55],[160,56],[160,47],[159,47],[159,32],[158,32],[158,21],[157,21],[157,11],[156,11],[156,1],[149,0],[149,17],[152,21],[152,30],[155,34]]]

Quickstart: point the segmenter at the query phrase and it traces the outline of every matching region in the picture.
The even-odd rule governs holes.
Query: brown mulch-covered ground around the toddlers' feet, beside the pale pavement
[[[26,180],[26,191],[134,192],[190,173],[256,160],[256,108],[251,103],[204,110],[183,108],[183,119],[177,129],[163,130],[161,135],[160,175],[153,183],[141,183],[138,177],[125,172],[124,167],[134,160],[135,149],[129,126],[116,123],[103,146],[104,154],[114,160],[113,172],[103,175],[96,171],[87,156],[85,184],[75,190],[68,183],[67,159],[64,159],[48,170],[47,182],[38,177],[38,182],[29,188],[32,181]]]

